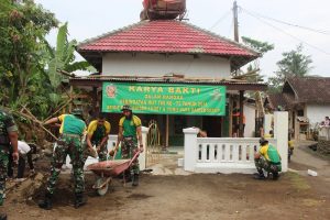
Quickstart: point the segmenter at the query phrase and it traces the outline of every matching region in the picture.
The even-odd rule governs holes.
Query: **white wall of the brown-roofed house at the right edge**
[[[330,117],[330,105],[307,105],[305,116],[311,125],[320,123],[326,117]]]

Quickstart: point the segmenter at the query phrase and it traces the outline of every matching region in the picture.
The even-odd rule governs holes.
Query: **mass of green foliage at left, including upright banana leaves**
[[[33,0],[20,2],[0,1],[0,106],[26,107],[43,119],[68,99],[57,69],[72,73],[89,65],[75,62],[77,42],[67,40],[67,23],[53,48],[45,36],[58,25],[55,15]]]

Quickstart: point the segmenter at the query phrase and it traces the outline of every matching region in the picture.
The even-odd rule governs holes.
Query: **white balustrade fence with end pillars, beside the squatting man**
[[[282,158],[287,158],[287,112],[275,113],[275,139],[270,143],[277,147]],[[184,168],[195,173],[243,173],[256,172],[254,153],[258,151],[258,139],[197,138],[197,129],[185,129]],[[287,160],[282,160],[287,170]]]

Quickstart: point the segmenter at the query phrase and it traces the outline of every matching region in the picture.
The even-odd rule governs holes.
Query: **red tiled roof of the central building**
[[[86,52],[146,52],[239,56],[252,61],[258,54],[239,43],[186,22],[142,21],[88,40],[78,45]]]

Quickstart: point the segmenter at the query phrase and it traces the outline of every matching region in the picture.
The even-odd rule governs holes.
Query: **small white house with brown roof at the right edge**
[[[268,95],[266,107],[289,111],[293,138],[306,139],[326,117],[330,117],[330,78],[288,78],[280,94]]]

